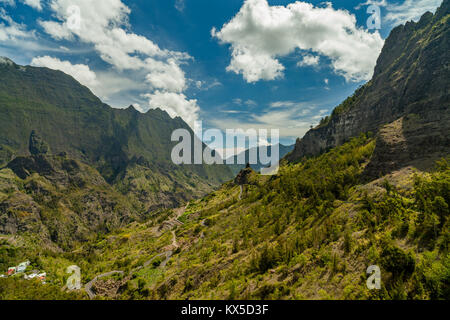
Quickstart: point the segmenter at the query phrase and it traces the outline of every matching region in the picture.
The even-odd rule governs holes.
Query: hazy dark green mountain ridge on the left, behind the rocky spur
[[[232,178],[224,165],[174,165],[171,134],[179,128],[194,137],[161,109],[113,109],[63,72],[0,60],[0,166],[30,155],[35,132],[53,155],[92,166],[148,211],[174,207]]]

